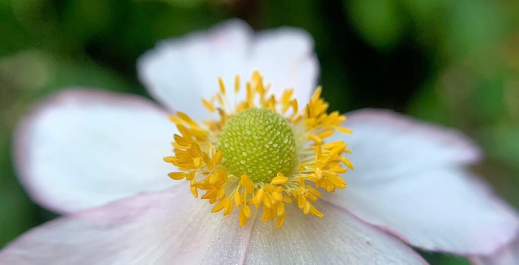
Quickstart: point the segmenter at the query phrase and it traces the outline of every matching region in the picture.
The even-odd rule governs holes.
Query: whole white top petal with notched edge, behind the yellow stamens
[[[313,40],[297,29],[278,29],[254,35],[241,20],[229,20],[208,31],[162,41],[138,61],[141,81],[165,106],[184,111],[196,119],[208,117],[201,99],[218,89],[217,77],[227,85],[234,102],[234,76],[244,81],[252,71],[265,74],[272,91],[295,87],[295,96],[305,102],[315,88],[318,61]]]

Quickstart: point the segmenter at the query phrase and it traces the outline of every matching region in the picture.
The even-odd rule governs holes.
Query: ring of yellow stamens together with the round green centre
[[[338,111],[327,114],[320,87],[299,109],[293,89],[276,99],[258,72],[245,83],[242,101],[236,100],[243,91],[235,76],[232,105],[222,78],[218,85],[211,99],[202,99],[218,118],[200,123],[181,112],[170,116],[180,134],[173,136],[174,156],[164,160],[180,172],[169,177],[187,180],[195,198],[204,191],[200,198],[215,204],[213,213],[238,210],[240,226],[251,218],[253,206],[263,207],[261,220],[276,219],[278,228],[286,217],[285,204],[293,202],[305,215],[323,217],[312,205],[321,197],[317,189],[344,189],[340,174],[353,170],[344,156],[351,154],[347,144],[326,142],[336,131],[351,133],[340,125],[346,117]]]

